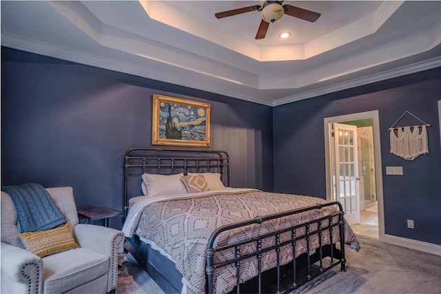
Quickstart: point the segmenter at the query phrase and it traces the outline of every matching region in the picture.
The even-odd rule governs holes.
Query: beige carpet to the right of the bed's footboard
[[[358,240],[359,252],[346,251],[346,272],[331,271],[320,284],[294,293],[441,293],[441,256],[363,235]]]

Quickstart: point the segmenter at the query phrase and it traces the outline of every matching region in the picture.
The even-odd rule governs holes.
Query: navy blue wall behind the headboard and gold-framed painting
[[[211,103],[232,187],[273,190],[271,107],[4,47],[1,185],[72,186],[78,209],[122,209],[123,156],[151,146],[152,94]]]

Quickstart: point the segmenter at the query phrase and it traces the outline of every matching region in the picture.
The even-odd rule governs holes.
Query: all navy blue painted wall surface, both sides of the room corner
[[[441,244],[434,233],[441,224],[441,68],[271,108],[1,48],[1,185],[68,185],[79,209],[121,209],[123,155],[150,146],[154,93],[212,104],[210,148],[230,154],[233,187],[322,198],[323,118],[378,109],[386,233]],[[389,153],[389,127],[406,110],[431,124],[430,153],[412,161]],[[404,176],[387,176],[386,166],[402,166]],[[407,229],[408,218],[416,229]]]

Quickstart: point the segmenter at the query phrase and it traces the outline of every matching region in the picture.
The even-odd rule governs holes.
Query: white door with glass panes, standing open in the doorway
[[[334,200],[349,224],[360,222],[357,127],[334,123]]]

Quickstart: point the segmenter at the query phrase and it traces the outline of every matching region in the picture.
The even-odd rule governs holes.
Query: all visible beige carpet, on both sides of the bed
[[[441,293],[441,256],[379,242],[358,235],[362,249],[349,251],[347,271],[328,271],[292,294],[429,294]],[[132,255],[121,255],[116,293],[163,294],[136,263]]]

